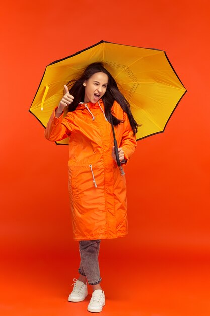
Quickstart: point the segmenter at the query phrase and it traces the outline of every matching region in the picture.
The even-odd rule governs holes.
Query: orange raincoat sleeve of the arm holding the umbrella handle
[[[136,135],[133,134],[133,130],[130,125],[130,121],[128,119],[126,112],[123,113],[123,120],[124,120],[123,133],[122,133],[122,140],[121,140],[120,147],[124,151],[124,157],[126,160],[124,165],[126,165],[131,155],[135,151],[137,142],[136,142]]]

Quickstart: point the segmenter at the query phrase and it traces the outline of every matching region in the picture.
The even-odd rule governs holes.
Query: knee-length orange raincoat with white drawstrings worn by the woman
[[[69,137],[68,187],[75,240],[117,238],[128,233],[125,176],[112,158],[112,128],[101,99],[99,104],[79,104],[65,118],[56,118],[54,109],[45,130],[50,141]],[[136,138],[120,105],[115,101],[112,108],[114,115],[124,120],[114,129],[118,147],[128,161]]]

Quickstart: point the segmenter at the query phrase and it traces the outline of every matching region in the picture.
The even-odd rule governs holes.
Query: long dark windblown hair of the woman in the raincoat
[[[134,135],[138,131],[138,125],[135,121],[131,110],[130,110],[130,104],[126,100],[126,98],[122,95],[122,93],[119,91],[117,83],[115,79],[112,77],[112,75],[103,67],[101,62],[96,62],[90,64],[80,75],[79,78],[76,78],[74,80],[71,80],[67,83],[69,93],[74,96],[74,100],[71,103],[71,105],[68,107],[68,112],[74,111],[78,104],[80,102],[84,101],[85,97],[85,87],[83,86],[83,82],[85,80],[88,80],[92,75],[94,75],[97,72],[103,72],[108,76],[108,85],[105,94],[102,96],[102,100],[104,102],[105,107],[105,115],[110,122],[110,116],[112,115],[112,121],[113,125],[118,125],[119,123],[122,123],[122,120],[117,119],[113,113],[111,113],[111,107],[113,106],[114,101],[116,100],[123,111],[125,111],[128,115],[128,119],[130,122],[130,125],[132,127]],[[110,122],[111,123],[111,122]]]

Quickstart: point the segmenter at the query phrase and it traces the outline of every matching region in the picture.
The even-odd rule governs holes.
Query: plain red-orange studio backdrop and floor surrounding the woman
[[[1,315],[65,315],[76,314],[80,308],[66,303],[69,280],[77,278],[79,265],[69,212],[68,147],[45,140],[44,128],[28,109],[46,65],[100,40],[165,50],[188,90],[165,132],[138,141],[125,169],[129,234],[102,240],[100,250],[102,286],[110,301],[116,295],[119,301],[117,307],[107,301],[103,312],[122,315],[129,305],[130,315],[209,315],[205,294],[201,299],[198,292],[187,292],[190,283],[182,296],[188,301],[180,301],[180,305],[170,301],[174,293],[168,296],[171,305],[164,301],[160,305],[160,288],[151,290],[157,267],[158,284],[165,295],[172,283],[163,288],[163,278],[178,278],[174,272],[163,273],[163,262],[181,262],[182,269],[186,262],[196,262],[197,267],[198,261],[205,265],[209,260],[208,1],[22,0],[4,2],[0,15]],[[151,262],[156,264],[149,269]],[[185,277],[189,273],[189,266],[185,268],[176,270],[180,282],[182,273]],[[203,266],[195,269],[194,277],[197,271],[207,273]],[[209,274],[200,275],[205,281],[207,277]],[[123,303],[133,280],[142,286],[135,290],[142,299],[146,289],[153,293],[141,306],[131,296],[128,305]],[[200,280],[196,282],[203,284]],[[115,284],[114,293],[110,282]],[[45,294],[40,295],[40,284]],[[124,289],[123,295],[117,291],[119,287]],[[182,283],[178,287],[184,288]],[[55,288],[59,294],[50,292]],[[19,293],[14,301],[12,291]],[[47,297],[46,301],[40,296]],[[57,309],[50,309],[48,299],[52,298]],[[193,310],[189,309],[191,303]],[[80,306],[80,313],[86,313],[86,305]]]

